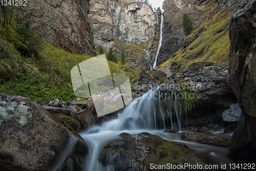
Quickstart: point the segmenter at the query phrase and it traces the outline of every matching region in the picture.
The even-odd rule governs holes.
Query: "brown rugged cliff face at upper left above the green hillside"
[[[91,26],[88,21],[89,1],[32,0],[17,12],[25,16],[33,12],[33,27],[53,45],[74,53],[95,55]]]

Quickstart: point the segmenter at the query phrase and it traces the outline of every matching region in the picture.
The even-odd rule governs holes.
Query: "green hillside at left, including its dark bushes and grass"
[[[0,92],[39,102],[76,99],[70,71],[93,56],[56,48],[33,32],[30,18],[15,17],[13,14],[6,27],[0,26]],[[138,78],[139,72],[134,69],[124,72],[125,66],[111,61],[109,67],[111,73],[126,73],[131,82]]]

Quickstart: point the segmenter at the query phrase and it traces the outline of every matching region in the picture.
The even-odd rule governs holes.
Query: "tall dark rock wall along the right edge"
[[[230,19],[228,84],[237,96],[242,114],[233,133],[229,157],[237,163],[254,163],[256,153],[256,2],[243,1]]]

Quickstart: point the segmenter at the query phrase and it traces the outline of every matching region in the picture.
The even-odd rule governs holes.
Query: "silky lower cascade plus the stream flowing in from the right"
[[[179,100],[176,93],[174,94],[175,102],[173,104],[173,109],[175,109],[177,122],[179,124],[178,126],[179,129],[181,129]],[[87,158],[86,168],[84,171],[114,170],[113,166],[111,165],[103,167],[98,162],[98,158],[103,146],[111,140],[119,139],[120,137],[118,135],[121,133],[139,134],[142,132],[148,132],[150,134],[158,135],[164,139],[185,143],[190,149],[194,149],[194,151],[208,153],[210,156],[212,156],[213,160],[220,160],[219,158],[221,155],[218,153],[218,151],[221,151],[221,153],[225,151],[225,153],[227,153],[226,149],[221,147],[212,147],[212,145],[210,146],[206,144],[199,145],[199,143],[185,142],[176,138],[170,139],[170,137],[167,135],[168,133],[163,132],[163,129],[165,129],[165,112],[162,111],[163,101],[160,96],[161,87],[150,90],[143,96],[134,99],[124,108],[121,114],[118,114],[116,119],[106,121],[102,123],[102,125],[93,126],[87,131],[80,133],[81,137],[87,141],[90,148],[90,154]],[[173,114],[171,106],[169,106],[169,110],[167,110],[166,113],[166,115],[169,115],[173,127],[174,121],[172,120]],[[221,159],[221,161],[222,160],[223,159]]]

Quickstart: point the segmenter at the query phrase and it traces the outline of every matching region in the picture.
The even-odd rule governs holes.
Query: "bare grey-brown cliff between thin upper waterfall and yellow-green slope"
[[[182,48],[185,40],[182,27],[183,14],[188,14],[196,25],[200,22],[200,19],[198,19],[200,18],[200,13],[206,10],[209,1],[165,0],[163,2],[163,40],[157,59],[157,66]]]

